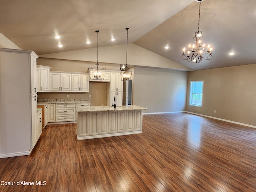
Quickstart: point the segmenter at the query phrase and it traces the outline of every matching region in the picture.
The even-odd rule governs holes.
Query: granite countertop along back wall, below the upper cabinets
[[[90,103],[88,99],[38,99],[37,105],[47,105],[56,103]]]

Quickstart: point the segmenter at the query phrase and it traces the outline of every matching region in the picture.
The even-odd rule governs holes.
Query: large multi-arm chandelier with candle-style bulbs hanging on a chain
[[[196,39],[195,41],[196,44],[188,45],[187,56],[185,54],[186,49],[183,48],[182,59],[187,61],[192,61],[193,63],[200,63],[202,59],[206,59],[206,60],[212,59],[212,47],[210,46],[210,44],[208,44],[207,51],[206,51],[205,44],[202,44],[201,38],[203,38],[203,36],[202,36],[202,31],[199,31],[199,24],[200,24],[201,1],[203,0],[195,0],[195,1],[199,2],[198,31],[195,32],[195,36],[193,38],[193,39]]]

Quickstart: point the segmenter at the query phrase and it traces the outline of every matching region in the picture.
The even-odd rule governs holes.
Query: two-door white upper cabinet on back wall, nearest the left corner
[[[71,91],[71,74],[50,72],[50,91]]]

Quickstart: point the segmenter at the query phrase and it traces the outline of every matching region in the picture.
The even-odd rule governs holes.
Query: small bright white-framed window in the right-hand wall
[[[190,105],[202,107],[203,84],[204,84],[204,81],[190,82],[190,99],[189,99]]]

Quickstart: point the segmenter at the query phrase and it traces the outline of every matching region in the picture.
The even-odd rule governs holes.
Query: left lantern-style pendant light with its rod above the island
[[[106,68],[98,64],[99,30],[97,32],[97,64],[88,68],[91,80],[104,80]]]

